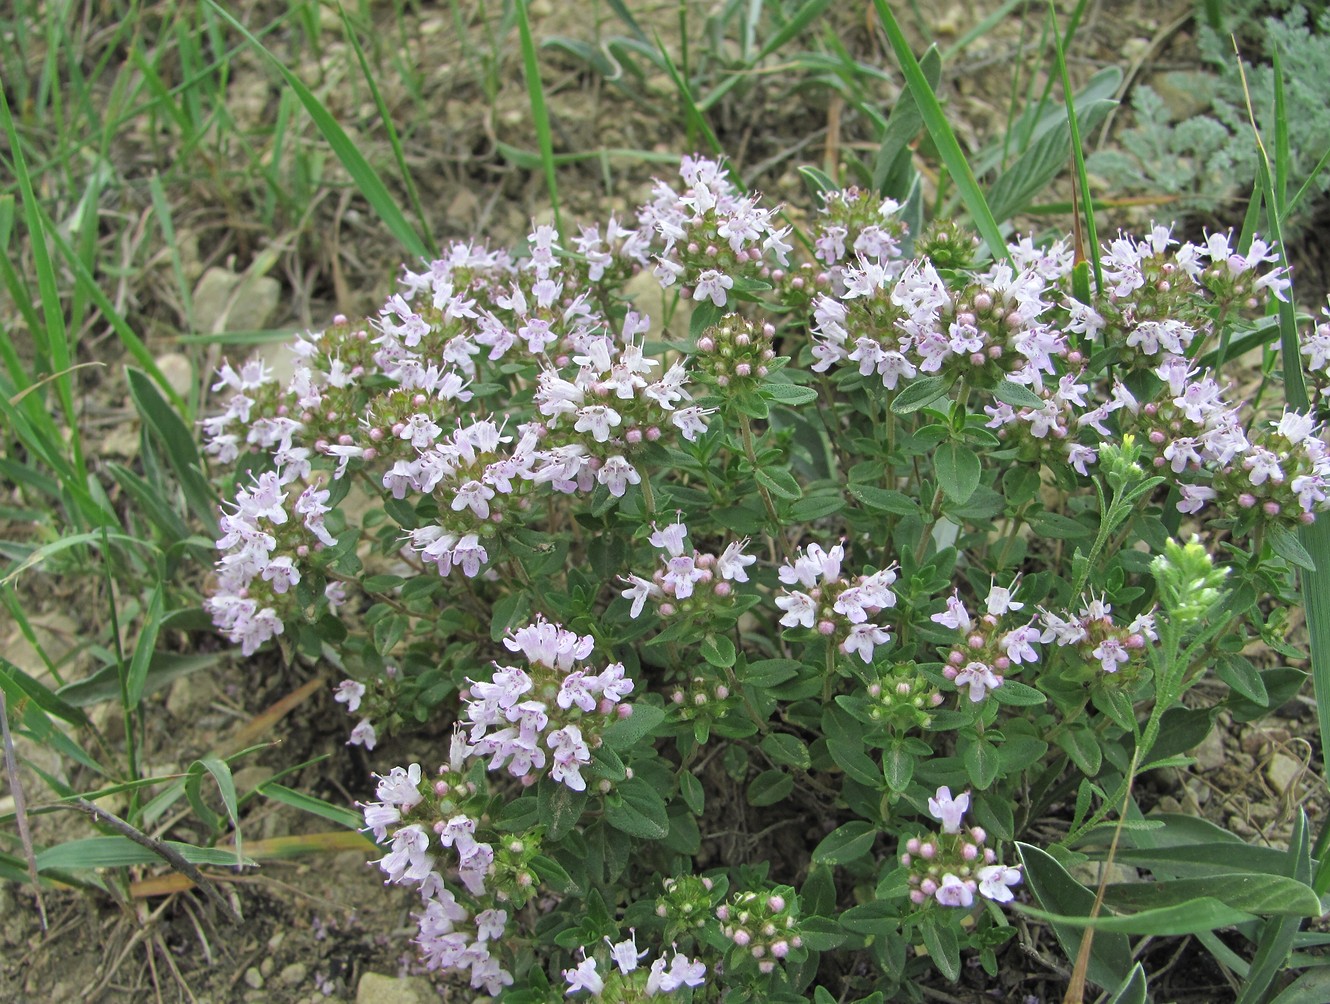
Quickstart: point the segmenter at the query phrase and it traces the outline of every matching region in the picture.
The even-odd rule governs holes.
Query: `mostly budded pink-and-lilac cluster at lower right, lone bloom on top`
[[[950,787],[939,787],[928,799],[928,814],[942,823],[942,831],[906,840],[900,864],[910,868],[910,902],[915,906],[936,900],[968,910],[976,892],[995,903],[1013,899],[1011,887],[1020,884],[1020,868],[998,860],[992,847],[984,846],[988,835],[982,827],[962,827],[968,809],[968,791],[952,798]]]

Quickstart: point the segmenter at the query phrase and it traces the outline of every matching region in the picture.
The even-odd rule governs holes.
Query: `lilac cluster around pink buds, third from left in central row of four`
[[[958,690],[970,689],[970,699],[975,703],[1001,686],[1003,673],[1012,665],[1039,661],[1035,644],[1039,629],[1035,620],[1012,626],[1004,622],[1008,613],[1020,610],[1025,604],[1012,598],[1016,585],[1011,588],[994,584],[984,601],[984,613],[978,620],[971,618],[960,592],[947,597],[947,609],[935,613],[930,620],[960,633],[960,641],[947,654],[943,676],[956,685]]]

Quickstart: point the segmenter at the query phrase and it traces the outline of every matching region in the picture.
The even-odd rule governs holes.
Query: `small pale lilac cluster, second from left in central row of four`
[[[779,577],[786,586],[775,597],[785,610],[781,625],[809,628],[825,637],[839,638],[841,652],[872,662],[874,650],[891,641],[890,632],[870,617],[896,605],[891,584],[894,568],[861,574],[850,580],[841,574],[845,547],[837,544],[823,551],[819,544],[801,548],[793,561],[781,565]]]

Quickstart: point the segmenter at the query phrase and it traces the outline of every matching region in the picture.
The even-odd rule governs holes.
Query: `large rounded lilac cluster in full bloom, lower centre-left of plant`
[[[580,666],[595,640],[543,618],[519,628],[504,646],[521,652],[528,669],[495,664],[488,681],[471,681],[463,707],[471,754],[488,757],[489,770],[507,766],[527,783],[548,763],[549,777],[585,791],[581,769],[591,763],[589,743],[598,743],[602,726],[632,714],[621,702],[633,681],[621,662],[600,673]]]

